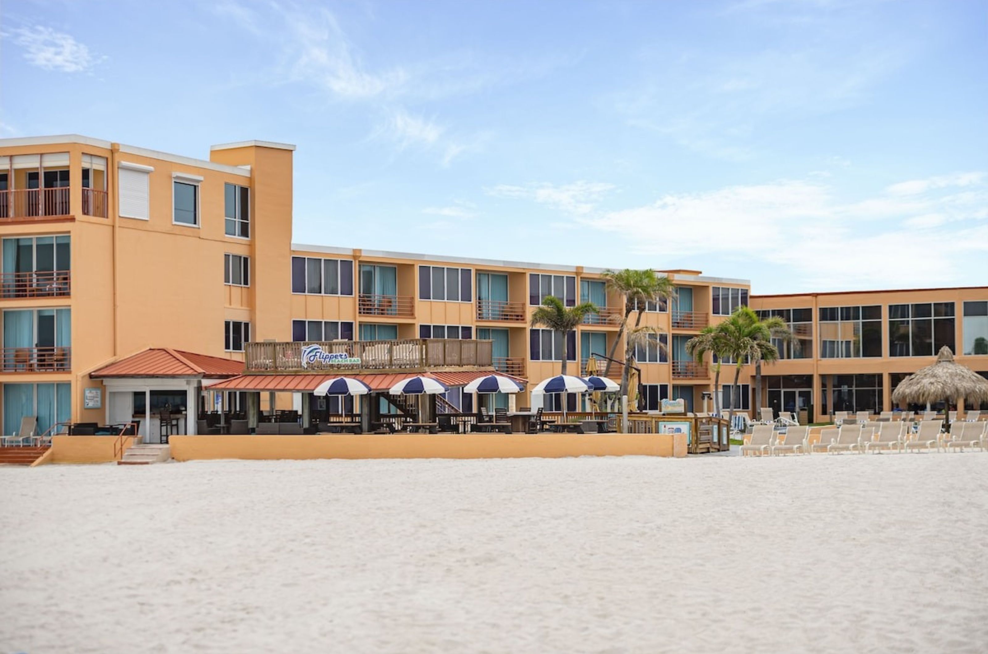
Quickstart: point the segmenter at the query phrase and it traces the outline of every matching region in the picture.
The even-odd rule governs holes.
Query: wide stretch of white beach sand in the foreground
[[[0,652],[984,652],[988,454],[0,469]]]

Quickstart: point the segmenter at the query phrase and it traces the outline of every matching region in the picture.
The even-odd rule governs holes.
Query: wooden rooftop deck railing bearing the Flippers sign
[[[309,346],[317,346],[310,348]],[[326,372],[339,370],[490,367],[491,341],[405,339],[247,343],[248,372]],[[304,357],[303,357],[304,354]]]

